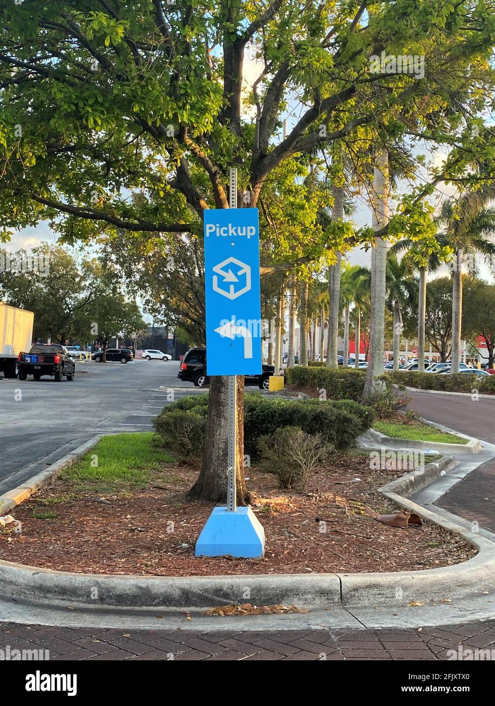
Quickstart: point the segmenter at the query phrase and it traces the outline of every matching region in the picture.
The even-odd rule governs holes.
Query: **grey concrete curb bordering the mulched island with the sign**
[[[105,434],[95,436],[47,471],[30,479],[26,486],[16,489],[17,493],[6,493],[9,498],[13,494],[10,498],[12,506],[47,484],[102,436]],[[477,556],[454,566],[364,574],[135,577],[66,573],[0,561],[3,594],[8,599],[38,606],[70,606],[93,611],[158,607],[205,609],[245,602],[246,590],[249,590],[249,601],[253,604],[297,604],[311,608],[374,604],[400,606],[412,599],[429,601],[443,597],[476,597],[484,590],[495,588],[495,544],[405,497],[427,486],[454,463],[452,457],[443,457],[422,471],[412,471],[378,489],[398,506],[417,513],[425,521],[435,522],[449,532],[460,534],[477,548]]]

